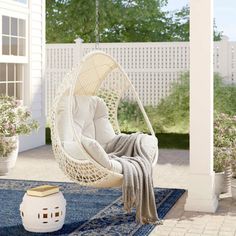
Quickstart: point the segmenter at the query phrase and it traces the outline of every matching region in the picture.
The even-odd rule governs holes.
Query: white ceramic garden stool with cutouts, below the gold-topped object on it
[[[25,193],[20,205],[24,228],[30,232],[46,233],[62,228],[66,214],[66,200],[61,192],[45,197]]]

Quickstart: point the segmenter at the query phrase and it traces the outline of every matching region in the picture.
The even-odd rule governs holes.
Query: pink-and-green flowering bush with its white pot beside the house
[[[13,97],[0,96],[0,175],[14,167],[19,148],[18,135],[38,129],[27,108]]]

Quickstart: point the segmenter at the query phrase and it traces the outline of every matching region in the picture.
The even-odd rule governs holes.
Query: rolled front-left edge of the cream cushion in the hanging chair
[[[120,162],[111,159],[96,140],[82,136],[81,143],[94,161],[110,171],[120,174],[122,173],[122,165]]]

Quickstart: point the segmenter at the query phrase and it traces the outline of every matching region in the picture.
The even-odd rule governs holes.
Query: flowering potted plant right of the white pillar
[[[214,121],[214,163],[217,162],[225,169],[225,191],[229,192],[231,187],[232,166],[235,163],[236,147],[236,116],[224,113],[216,113]],[[217,169],[217,168],[216,168]],[[216,174],[217,175],[217,174]],[[218,183],[216,181],[215,186]]]

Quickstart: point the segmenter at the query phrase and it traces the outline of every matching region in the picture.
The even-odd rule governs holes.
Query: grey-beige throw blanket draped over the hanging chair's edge
[[[105,151],[123,167],[122,198],[124,209],[136,207],[136,221],[141,224],[160,224],[155,204],[152,180],[152,161],[141,146],[146,134],[120,134],[111,140]]]

